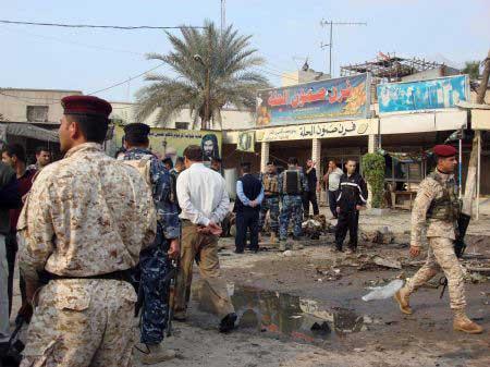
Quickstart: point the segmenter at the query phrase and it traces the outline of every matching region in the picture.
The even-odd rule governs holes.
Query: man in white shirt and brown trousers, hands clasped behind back
[[[203,149],[191,145],[184,150],[186,170],[177,179],[176,192],[182,212],[182,249],[174,318],[184,320],[191,296],[193,262],[196,258],[211,303],[221,319],[220,331],[235,326],[236,314],[221,277],[218,258],[220,222],[229,212],[230,198],[224,179],[203,164]]]

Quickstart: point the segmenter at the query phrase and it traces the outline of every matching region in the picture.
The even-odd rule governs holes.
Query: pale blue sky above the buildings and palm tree
[[[322,20],[366,22],[333,29],[333,75],[340,65],[373,60],[379,51],[464,65],[490,48],[489,0],[226,0],[226,24],[252,35],[274,86],[306,59],[328,72],[329,30]],[[220,0],[0,0],[0,20],[100,25],[220,24]],[[171,30],[179,33],[179,30]],[[158,65],[147,52],[171,48],[162,30],[74,29],[0,24],[0,87],[74,89],[89,94]],[[161,66],[154,73],[170,73]],[[143,77],[97,94],[133,101]]]

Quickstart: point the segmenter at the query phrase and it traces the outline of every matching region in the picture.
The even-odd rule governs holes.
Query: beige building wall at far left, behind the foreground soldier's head
[[[12,122],[27,122],[27,106],[47,106],[48,122],[58,124],[63,114],[61,98],[79,90],[0,89],[0,113]]]

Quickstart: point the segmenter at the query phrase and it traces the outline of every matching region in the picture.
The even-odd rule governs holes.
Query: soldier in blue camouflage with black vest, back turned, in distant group
[[[303,221],[303,197],[306,180],[297,167],[297,158],[290,158],[287,170],[279,175],[279,193],[282,196],[282,209],[279,217],[280,249],[286,247],[290,219],[293,220],[293,238],[301,240]]]

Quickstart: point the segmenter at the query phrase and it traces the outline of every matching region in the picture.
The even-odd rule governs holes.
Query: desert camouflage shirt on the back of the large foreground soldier
[[[41,270],[89,277],[133,268],[156,227],[151,193],[138,171],[99,144],[82,144],[34,182],[17,224],[25,238],[21,271],[37,280]]]

